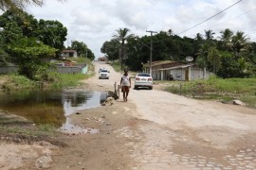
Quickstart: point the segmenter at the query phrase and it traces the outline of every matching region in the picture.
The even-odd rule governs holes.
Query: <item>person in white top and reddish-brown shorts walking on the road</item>
[[[131,77],[128,75],[128,71],[124,70],[124,74],[120,79],[121,92],[124,102],[127,102],[127,96],[130,92],[131,85]]]

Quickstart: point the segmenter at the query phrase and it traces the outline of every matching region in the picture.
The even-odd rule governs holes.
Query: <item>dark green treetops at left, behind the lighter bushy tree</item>
[[[46,45],[58,49],[64,48],[67,29],[58,21],[39,22],[26,11],[8,10],[0,16],[0,27],[6,43],[15,42],[20,38],[35,38]]]

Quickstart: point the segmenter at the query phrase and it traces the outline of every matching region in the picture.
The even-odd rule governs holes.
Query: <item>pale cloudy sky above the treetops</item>
[[[38,20],[61,22],[67,28],[64,45],[84,42],[96,59],[104,56],[102,44],[124,27],[138,37],[172,29],[175,35],[194,38],[212,30],[216,39],[229,28],[256,42],[255,0],[45,0],[43,7],[26,10]]]

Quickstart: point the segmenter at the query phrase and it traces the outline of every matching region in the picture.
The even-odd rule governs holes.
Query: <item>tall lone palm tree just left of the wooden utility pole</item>
[[[114,35],[113,37],[115,37],[116,40],[118,40],[119,42],[121,42],[121,51],[120,51],[120,57],[119,57],[119,67],[122,69],[122,65],[123,65],[123,48],[124,48],[124,42],[129,39],[134,37],[134,34],[128,34],[130,32],[130,29],[124,27],[124,28],[119,28],[117,30],[117,34]]]

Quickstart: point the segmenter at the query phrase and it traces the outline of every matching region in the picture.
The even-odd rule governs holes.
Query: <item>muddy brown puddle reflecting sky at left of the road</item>
[[[0,93],[0,110],[25,117],[36,125],[54,125],[67,134],[98,133],[98,129],[72,125],[69,115],[101,107],[106,97],[106,92],[82,90]]]

